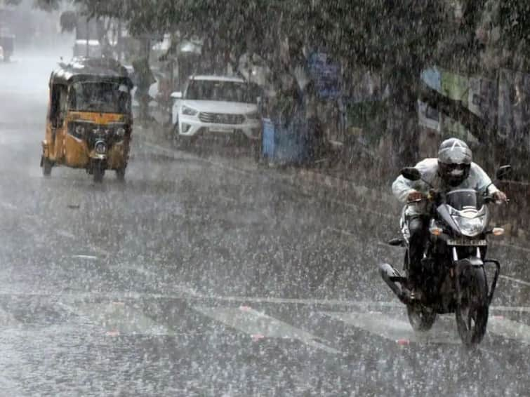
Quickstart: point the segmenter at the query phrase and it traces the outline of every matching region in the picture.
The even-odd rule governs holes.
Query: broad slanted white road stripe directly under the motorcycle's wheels
[[[456,326],[447,326],[447,321],[443,318],[437,318],[429,332],[415,332],[409,321],[406,319],[386,316],[382,313],[369,312],[360,313],[340,312],[340,311],[322,311],[324,316],[342,321],[348,325],[379,335],[385,339],[393,341],[405,340],[408,342],[418,343],[436,343],[436,344],[461,344],[461,339],[456,333]],[[404,316],[406,318],[406,316]]]

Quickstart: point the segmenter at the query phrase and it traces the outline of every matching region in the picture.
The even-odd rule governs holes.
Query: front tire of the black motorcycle
[[[456,325],[465,346],[482,341],[488,324],[488,285],[483,267],[468,265],[459,271],[456,282]]]

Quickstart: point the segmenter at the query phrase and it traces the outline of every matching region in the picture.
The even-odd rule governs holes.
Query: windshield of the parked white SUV
[[[251,91],[249,84],[238,81],[190,80],[186,99],[253,103]]]

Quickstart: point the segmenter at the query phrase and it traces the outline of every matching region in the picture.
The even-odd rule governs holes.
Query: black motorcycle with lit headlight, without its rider
[[[509,171],[510,166],[499,168],[497,179],[501,180]],[[404,168],[402,175],[409,180],[422,180],[416,168]],[[489,306],[501,271],[497,260],[486,259],[487,238],[504,234],[500,227],[489,227],[488,204],[493,202],[493,197],[479,194],[475,189],[442,192],[432,188],[427,198],[411,203],[420,201],[426,201],[430,208],[429,238],[422,260],[420,285],[412,291],[407,276],[409,236],[404,215],[401,220],[403,237],[388,242],[406,248],[404,274],[383,263],[379,265],[380,275],[406,305],[414,330],[428,331],[438,314],[454,313],[463,344],[477,345],[486,333]],[[489,267],[493,270],[491,281],[486,274]]]

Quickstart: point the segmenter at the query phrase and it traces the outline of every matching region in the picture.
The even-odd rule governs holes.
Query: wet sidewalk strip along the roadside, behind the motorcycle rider
[[[390,182],[366,177],[363,170],[353,170],[340,164],[334,166],[321,166],[319,168],[301,168],[301,167],[281,167],[267,166],[258,164],[246,154],[237,156],[222,156],[220,154],[206,153],[198,154],[192,151],[183,152],[173,148],[168,137],[164,134],[161,127],[141,128],[135,126],[133,139],[140,140],[142,144],[151,146],[167,156],[175,158],[182,156],[199,157],[208,163],[214,164],[220,168],[227,168],[235,172],[245,173],[248,175],[262,175],[270,179],[279,180],[299,187],[305,192],[316,194],[331,201],[347,203],[357,208],[365,208],[384,217],[397,219],[402,210],[402,204],[399,203],[391,193]],[[383,184],[387,185],[386,189]],[[524,200],[524,194],[519,201]],[[526,203],[527,208],[528,203]],[[512,208],[513,209],[513,208]],[[523,209],[524,211],[524,209]],[[518,213],[515,211],[515,213]],[[518,213],[520,215],[520,213]],[[514,243],[521,247],[526,247],[530,252],[528,229],[521,227],[521,220],[514,211],[510,210],[493,210],[493,219],[509,218],[502,226],[506,229],[505,243]],[[516,226],[515,228],[512,226]]]

